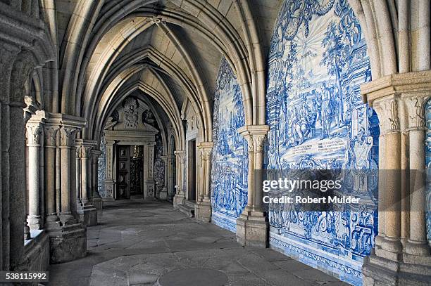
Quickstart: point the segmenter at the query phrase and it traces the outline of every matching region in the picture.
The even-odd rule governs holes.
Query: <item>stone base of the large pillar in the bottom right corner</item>
[[[364,258],[363,286],[425,286],[431,281],[431,257],[412,257],[392,261],[375,255]]]

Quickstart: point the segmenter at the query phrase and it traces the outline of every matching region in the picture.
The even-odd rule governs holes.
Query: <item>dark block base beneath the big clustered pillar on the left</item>
[[[72,261],[87,254],[87,233],[81,223],[48,230],[50,261],[53,264]]]

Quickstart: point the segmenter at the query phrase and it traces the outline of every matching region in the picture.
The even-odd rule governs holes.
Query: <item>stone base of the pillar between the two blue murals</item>
[[[268,247],[268,230],[263,212],[244,209],[237,219],[237,242],[244,246]]]

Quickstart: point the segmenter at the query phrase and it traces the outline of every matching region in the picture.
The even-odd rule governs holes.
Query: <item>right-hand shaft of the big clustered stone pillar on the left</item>
[[[70,149],[75,141],[75,127],[61,126],[61,214],[60,219],[64,224],[76,223],[70,208]]]

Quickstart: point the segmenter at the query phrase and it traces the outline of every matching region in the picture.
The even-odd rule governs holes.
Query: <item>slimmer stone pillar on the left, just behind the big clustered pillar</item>
[[[80,184],[81,190],[81,202],[77,205],[77,213],[80,216],[80,221],[85,226],[96,226],[97,224],[97,209],[93,206],[91,199],[91,153],[92,148],[96,145],[95,141],[88,141],[78,139],[76,141],[77,147],[79,147],[79,155],[81,168],[80,168],[80,180],[77,183]],[[78,149],[77,149],[78,150]],[[77,166],[78,169],[78,166]],[[78,188],[77,188],[78,189]]]

